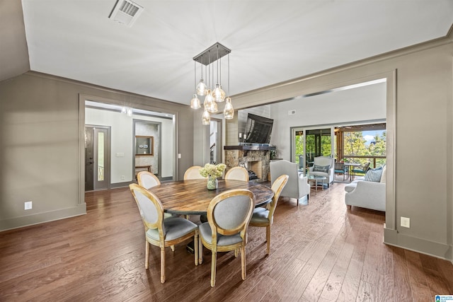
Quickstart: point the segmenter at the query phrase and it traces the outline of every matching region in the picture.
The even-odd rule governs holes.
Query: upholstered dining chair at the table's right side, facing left
[[[270,253],[270,227],[272,226],[274,220],[274,212],[275,208],[277,207],[278,198],[280,197],[280,193],[282,192],[283,188],[285,187],[289,176],[288,175],[280,175],[277,180],[272,184],[271,189],[274,192],[274,197],[272,202],[266,204],[266,207],[258,207],[253,209],[253,214],[249,226],[261,226],[266,228],[266,254],[269,255]]]

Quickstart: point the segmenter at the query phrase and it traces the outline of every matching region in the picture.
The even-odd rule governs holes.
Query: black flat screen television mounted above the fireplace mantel
[[[248,113],[246,123],[246,143],[269,144],[274,120]]]

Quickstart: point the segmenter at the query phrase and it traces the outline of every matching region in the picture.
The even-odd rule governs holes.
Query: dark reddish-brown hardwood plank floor
[[[185,245],[144,269],[144,228],[128,188],[86,193],[87,214],[0,233],[0,301],[435,301],[453,294],[446,260],[384,245],[384,214],[344,204],[344,184],[280,199],[271,253],[249,228],[247,279],[234,252],[195,267]]]

